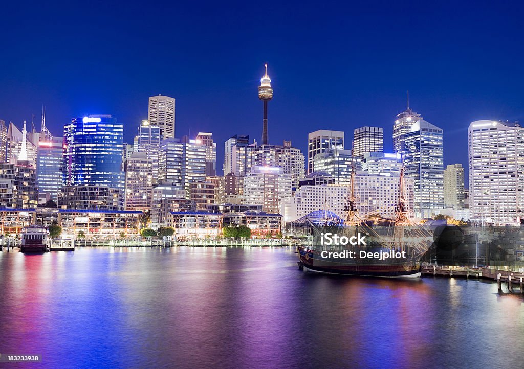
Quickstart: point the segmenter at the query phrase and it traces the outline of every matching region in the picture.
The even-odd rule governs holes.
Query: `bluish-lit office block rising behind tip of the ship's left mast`
[[[353,169],[360,168],[351,150],[326,149],[314,158],[315,172],[325,172],[333,177],[335,184],[349,184]]]

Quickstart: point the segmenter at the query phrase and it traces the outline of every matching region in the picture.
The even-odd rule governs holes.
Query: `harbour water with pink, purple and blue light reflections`
[[[46,367],[521,367],[521,295],[313,275],[294,251],[4,251],[0,353]]]

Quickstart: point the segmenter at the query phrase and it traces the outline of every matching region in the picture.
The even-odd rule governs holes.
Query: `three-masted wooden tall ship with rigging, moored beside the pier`
[[[361,216],[352,171],[344,217],[311,223],[313,241],[298,246],[299,266],[316,273],[417,278],[422,257],[433,243],[433,232],[410,217],[403,169],[391,218]],[[329,214],[326,211],[326,214]]]

